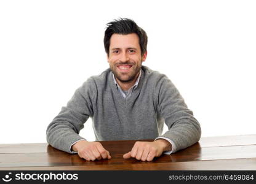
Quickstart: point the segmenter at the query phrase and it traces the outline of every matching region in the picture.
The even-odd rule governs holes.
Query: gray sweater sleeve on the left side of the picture
[[[88,79],[78,88],[65,107],[46,130],[47,142],[58,150],[73,153],[70,147],[74,142],[84,139],[79,131],[84,123],[93,116],[93,100],[96,93],[93,79]]]

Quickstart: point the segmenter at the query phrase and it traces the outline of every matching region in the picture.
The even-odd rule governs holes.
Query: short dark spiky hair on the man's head
[[[104,47],[107,55],[110,55],[110,38],[116,34],[132,34],[135,33],[138,35],[140,50],[143,53],[146,52],[146,45],[148,44],[148,36],[146,32],[140,28],[135,21],[130,20],[129,18],[119,18],[118,20],[111,21],[106,24],[106,31],[104,36]]]

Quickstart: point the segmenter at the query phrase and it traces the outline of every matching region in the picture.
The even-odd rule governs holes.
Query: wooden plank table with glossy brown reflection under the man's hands
[[[0,170],[256,170],[256,135],[202,137],[151,162],[123,159],[135,140],[103,141],[111,159],[86,161],[46,143],[0,144]]]

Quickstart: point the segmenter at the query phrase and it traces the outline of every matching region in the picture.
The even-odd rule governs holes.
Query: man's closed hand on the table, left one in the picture
[[[100,142],[88,142],[87,140],[80,140],[74,144],[71,149],[77,151],[79,157],[84,158],[87,161],[111,158],[110,152],[105,150]]]

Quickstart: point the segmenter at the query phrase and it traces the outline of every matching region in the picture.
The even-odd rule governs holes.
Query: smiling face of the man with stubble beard
[[[108,63],[120,82],[127,83],[135,80],[145,59],[146,52],[142,55],[137,34],[111,36]]]

